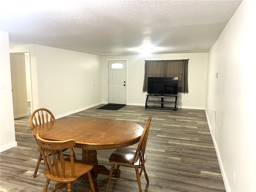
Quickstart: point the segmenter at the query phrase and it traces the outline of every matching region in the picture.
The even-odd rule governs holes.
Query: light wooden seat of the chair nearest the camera
[[[61,162],[58,162],[58,166],[61,167]],[[53,181],[72,183],[76,181],[80,176],[84,175],[86,172],[89,172],[90,170],[92,170],[93,165],[81,160],[74,160],[75,177],[72,177],[70,159],[65,159],[65,167],[66,167],[65,178],[62,173],[60,173],[60,177],[58,177],[55,169],[53,169],[54,174],[50,174],[49,171],[46,170],[44,172],[44,176]]]

